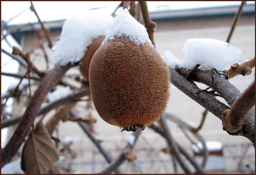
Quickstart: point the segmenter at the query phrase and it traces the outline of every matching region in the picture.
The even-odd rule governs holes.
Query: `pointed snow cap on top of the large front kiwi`
[[[113,19],[110,30],[102,44],[121,36],[129,38],[137,46],[148,42],[154,47],[148,37],[147,29],[133,18],[127,9],[119,11]]]

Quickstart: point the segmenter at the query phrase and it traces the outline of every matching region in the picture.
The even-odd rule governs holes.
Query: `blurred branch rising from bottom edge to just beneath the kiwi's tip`
[[[126,159],[124,152],[127,150],[131,150],[134,147],[140,133],[141,133],[141,129],[138,129],[137,131],[132,133],[132,135],[134,135],[134,137],[135,137],[133,144],[131,145],[128,142],[127,145],[125,146],[124,150],[122,151],[122,153],[118,156],[118,158],[115,161],[112,161],[106,169],[98,172],[97,174],[110,174],[111,172],[115,171]]]

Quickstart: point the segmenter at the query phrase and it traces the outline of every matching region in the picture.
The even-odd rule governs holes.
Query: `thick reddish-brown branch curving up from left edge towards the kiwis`
[[[25,141],[25,137],[29,134],[30,128],[47,93],[52,90],[53,86],[60,81],[61,77],[72,66],[74,65],[68,64],[66,66],[56,66],[44,76],[34,96],[31,98],[27,110],[12,135],[12,138],[1,151],[2,167],[11,160],[20,148],[21,143]]]

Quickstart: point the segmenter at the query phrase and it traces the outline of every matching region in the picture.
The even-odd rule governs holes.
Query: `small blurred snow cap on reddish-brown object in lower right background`
[[[196,145],[199,149],[201,149],[201,150],[203,149],[203,144],[201,142],[197,142]],[[200,152],[198,150],[198,148],[196,147],[196,145],[192,145],[192,149],[195,152]],[[223,148],[223,145],[220,141],[206,141],[205,146],[206,146],[208,151],[218,151],[218,150],[221,150]]]

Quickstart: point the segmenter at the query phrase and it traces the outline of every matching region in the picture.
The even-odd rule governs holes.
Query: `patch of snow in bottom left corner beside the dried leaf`
[[[18,158],[17,160],[4,165],[4,167],[1,168],[1,174],[24,174],[24,171],[20,168],[20,161],[21,159]]]

